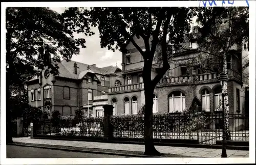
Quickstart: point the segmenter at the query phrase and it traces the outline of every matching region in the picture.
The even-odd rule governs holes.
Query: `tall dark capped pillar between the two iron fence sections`
[[[113,137],[113,127],[110,122],[110,117],[113,115],[113,105],[103,105],[104,108],[104,136],[107,137],[108,140]]]

